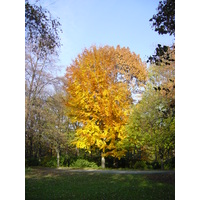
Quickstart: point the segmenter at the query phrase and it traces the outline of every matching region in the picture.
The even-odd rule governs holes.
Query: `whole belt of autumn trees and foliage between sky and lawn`
[[[175,2],[149,23],[175,37]],[[85,48],[58,76],[61,24],[25,1],[25,165],[175,168],[175,44],[150,63],[128,47]]]

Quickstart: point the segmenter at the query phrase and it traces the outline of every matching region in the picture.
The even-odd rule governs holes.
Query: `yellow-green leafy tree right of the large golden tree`
[[[175,148],[175,117],[169,99],[149,85],[133,106],[126,130],[125,147],[144,151],[148,157],[143,159],[160,161],[164,169],[164,161]]]

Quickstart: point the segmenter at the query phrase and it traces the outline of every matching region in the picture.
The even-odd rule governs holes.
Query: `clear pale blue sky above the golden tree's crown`
[[[149,19],[159,0],[40,0],[53,17],[59,17],[63,33],[59,65],[61,74],[83,49],[91,45],[129,47],[142,61],[158,43],[171,45],[174,38],[159,35]]]

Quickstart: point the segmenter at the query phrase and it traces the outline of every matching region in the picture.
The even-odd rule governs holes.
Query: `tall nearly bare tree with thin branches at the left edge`
[[[51,95],[51,85],[58,79],[53,75],[56,71],[54,57],[40,56],[41,49],[32,51],[32,44],[26,45],[25,51],[25,136],[29,157],[33,156],[34,138],[42,130],[43,107],[45,100]],[[38,138],[38,137],[36,137]],[[27,154],[26,154],[27,155]]]

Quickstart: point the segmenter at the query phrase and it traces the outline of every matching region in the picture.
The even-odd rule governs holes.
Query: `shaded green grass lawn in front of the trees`
[[[34,168],[25,172],[26,200],[175,199],[174,174],[102,174]]]

